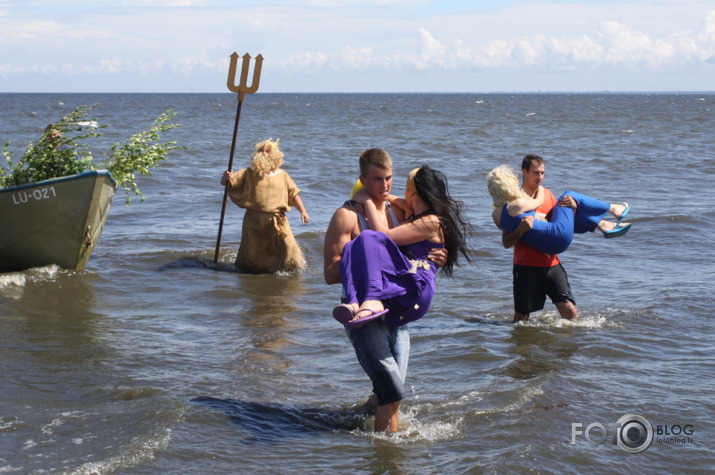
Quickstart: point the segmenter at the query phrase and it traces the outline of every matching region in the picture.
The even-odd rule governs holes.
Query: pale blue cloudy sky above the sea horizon
[[[228,92],[234,52],[259,92],[713,91],[715,1],[0,0],[0,92]]]

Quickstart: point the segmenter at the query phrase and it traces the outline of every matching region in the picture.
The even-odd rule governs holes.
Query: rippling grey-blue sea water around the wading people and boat
[[[263,276],[231,271],[233,205],[212,263],[235,98],[3,94],[0,140],[19,156],[47,123],[95,102],[111,127],[94,150],[169,108],[188,150],[140,179],[144,202],[117,194],[84,271],[0,274],[0,472],[712,470],[715,95],[250,96],[236,167],[255,142],[281,138],[312,217],[289,214],[308,268]],[[396,435],[372,433],[359,409],[369,381],[330,317],[339,288],[322,279],[325,228],[372,146],[392,154],[397,191],[423,162],[444,171],[476,228],[478,266],[438,279],[410,325]],[[547,160],[555,194],[633,204],[626,237],[578,236],[562,256],[574,322],[547,304],[510,324],[512,254],[484,177],[529,152]],[[571,443],[572,424],[628,413],[693,431],[638,454],[610,429],[603,444]]]

